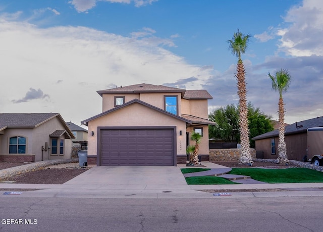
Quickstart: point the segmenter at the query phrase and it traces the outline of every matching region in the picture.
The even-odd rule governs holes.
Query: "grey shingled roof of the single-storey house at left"
[[[0,131],[7,128],[35,128],[55,117],[62,122],[69,136],[75,138],[59,113],[0,113]]]

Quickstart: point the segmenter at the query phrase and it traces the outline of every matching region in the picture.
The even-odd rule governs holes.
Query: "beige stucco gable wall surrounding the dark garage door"
[[[176,126],[177,155],[186,154],[185,122],[138,103],[88,122],[88,155],[97,155],[98,126]],[[94,136],[91,131],[94,131]]]

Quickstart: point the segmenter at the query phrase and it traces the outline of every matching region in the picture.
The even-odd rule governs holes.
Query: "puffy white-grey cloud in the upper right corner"
[[[323,1],[304,0],[284,18],[290,26],[281,28],[280,49],[291,56],[323,55]]]

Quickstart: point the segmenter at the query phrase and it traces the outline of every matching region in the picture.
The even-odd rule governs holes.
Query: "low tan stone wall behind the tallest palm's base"
[[[241,149],[210,149],[209,162],[215,161],[239,161]],[[251,158],[256,158],[256,150],[250,148]]]

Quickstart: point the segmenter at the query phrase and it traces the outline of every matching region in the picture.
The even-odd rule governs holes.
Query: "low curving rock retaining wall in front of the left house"
[[[50,165],[74,163],[74,162],[78,162],[78,159],[45,160],[45,161],[39,161],[39,162],[21,165],[21,166],[17,166],[17,167],[7,168],[7,169],[0,170],[0,180],[6,179],[6,178],[9,178],[11,176],[18,175],[21,173],[41,170],[41,169],[44,169],[45,167],[50,166]]]

